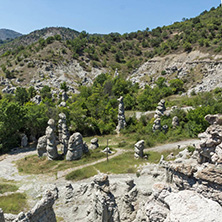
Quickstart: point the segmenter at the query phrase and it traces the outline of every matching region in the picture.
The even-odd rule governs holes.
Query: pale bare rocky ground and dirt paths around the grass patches
[[[157,146],[151,148],[151,150],[162,152],[164,150],[177,149],[178,145],[182,148],[197,144],[198,142],[199,140],[187,140],[180,143]],[[118,150],[115,156],[122,152],[124,151]],[[73,217],[75,217],[75,221],[90,221],[90,218],[94,218],[95,215],[92,216],[91,214],[90,216],[89,214],[91,212],[90,207],[92,207],[89,203],[91,203],[93,198],[96,198],[94,194],[98,190],[97,188],[95,189],[97,182],[93,182],[93,178],[79,182],[67,182],[64,176],[77,168],[61,171],[58,175],[20,175],[14,162],[35,153],[36,151],[33,149],[24,149],[2,156],[0,161],[0,178],[16,181],[19,184],[17,192],[26,192],[28,194],[30,207],[33,207],[39,201],[45,190],[57,187],[59,198],[54,205],[57,216],[64,218],[64,221],[67,222],[73,221]],[[95,163],[91,163],[90,165],[92,164]],[[139,177],[135,174],[109,175],[109,191],[115,197],[115,204],[119,212],[119,221],[133,221],[136,218],[137,212],[142,207],[141,204],[145,206],[148,197],[153,193],[153,185],[165,180],[165,169],[155,164],[147,164],[141,168]],[[100,185],[98,186],[100,187]],[[99,192],[102,192],[101,189]],[[97,200],[99,204],[101,201],[100,194],[97,197],[99,198]],[[104,198],[107,198],[107,196],[105,195]],[[94,208],[98,207],[94,206]],[[128,211],[129,214],[126,213]],[[97,220],[100,221],[98,218]],[[92,221],[97,220],[92,219]],[[116,219],[116,221],[118,220]]]

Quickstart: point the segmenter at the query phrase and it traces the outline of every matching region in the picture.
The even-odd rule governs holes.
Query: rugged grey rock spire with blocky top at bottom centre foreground
[[[107,175],[99,175],[94,179],[96,189],[89,210],[89,222],[119,222],[119,211],[114,195],[109,189]]]

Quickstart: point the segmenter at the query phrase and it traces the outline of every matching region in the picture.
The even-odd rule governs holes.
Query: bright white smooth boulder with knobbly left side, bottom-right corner
[[[134,222],[219,222],[221,215],[221,206],[217,202],[194,191],[172,192],[168,185],[158,183],[153,186],[153,194],[142,211],[138,211]]]

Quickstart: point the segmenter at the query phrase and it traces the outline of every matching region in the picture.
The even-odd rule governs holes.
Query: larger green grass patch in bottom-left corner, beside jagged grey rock
[[[0,208],[5,213],[18,214],[27,208],[27,197],[22,193],[14,193],[7,196],[1,196]]]

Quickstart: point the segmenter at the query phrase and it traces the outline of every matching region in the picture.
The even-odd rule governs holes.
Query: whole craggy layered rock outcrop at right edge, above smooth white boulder
[[[173,162],[164,162],[168,181],[179,190],[192,190],[222,206],[222,122],[220,115],[207,115],[211,124],[199,134],[200,144],[196,145],[192,158],[187,159],[184,150]]]

